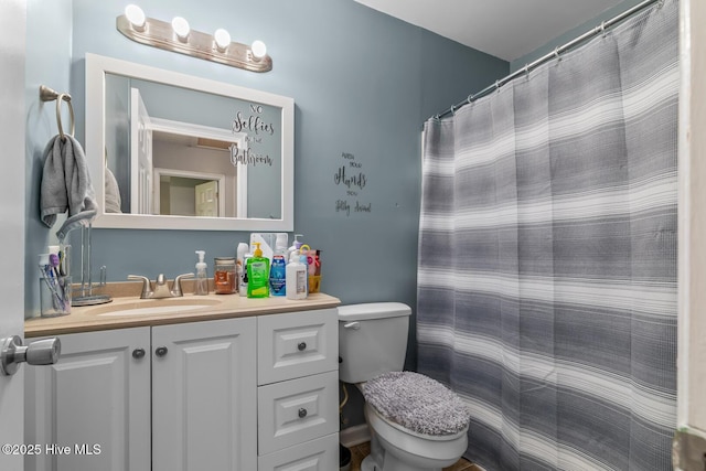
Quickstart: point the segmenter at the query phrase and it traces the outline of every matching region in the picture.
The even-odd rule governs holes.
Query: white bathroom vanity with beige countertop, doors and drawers
[[[30,319],[28,470],[338,469],[338,314],[307,300],[125,298]]]

